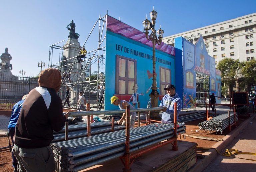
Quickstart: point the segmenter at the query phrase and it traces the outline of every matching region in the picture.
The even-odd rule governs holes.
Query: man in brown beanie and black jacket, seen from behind
[[[61,74],[57,69],[43,70],[38,84],[26,97],[15,127],[13,153],[18,171],[55,170],[50,143],[53,131],[64,127],[69,114],[62,115],[62,101],[57,96]]]

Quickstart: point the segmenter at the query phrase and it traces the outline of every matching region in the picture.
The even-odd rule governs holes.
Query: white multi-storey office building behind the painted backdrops
[[[239,61],[256,58],[256,13],[167,36],[163,41],[174,46],[175,38],[182,36],[195,44],[200,35],[215,64],[223,58]]]

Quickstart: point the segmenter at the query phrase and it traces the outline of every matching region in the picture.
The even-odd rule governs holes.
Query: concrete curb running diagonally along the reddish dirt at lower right
[[[229,135],[226,135],[223,138],[223,141],[218,141],[215,145],[213,145],[213,148],[216,148],[219,152],[223,151],[225,147],[232,142],[232,140],[240,133],[240,131],[245,128],[246,125],[248,125],[249,122],[253,120],[255,117],[254,114],[251,113],[251,117],[245,120],[241,125],[239,125],[237,128],[235,128],[233,131],[229,133]],[[218,155],[215,149],[209,149],[207,152],[203,153],[205,156],[204,159],[197,159],[197,162],[195,165],[193,165],[188,171],[189,172],[198,172],[203,171]]]

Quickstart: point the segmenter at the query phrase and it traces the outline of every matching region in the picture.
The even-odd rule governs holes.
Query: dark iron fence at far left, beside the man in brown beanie
[[[13,105],[38,86],[38,77],[0,74],[0,109],[12,109]]]

